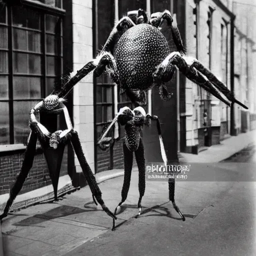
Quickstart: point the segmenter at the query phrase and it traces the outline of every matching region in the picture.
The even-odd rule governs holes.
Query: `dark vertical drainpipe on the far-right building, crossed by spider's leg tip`
[[[234,94],[234,17],[230,20],[230,90]],[[230,106],[230,135],[235,136],[234,104]]]

